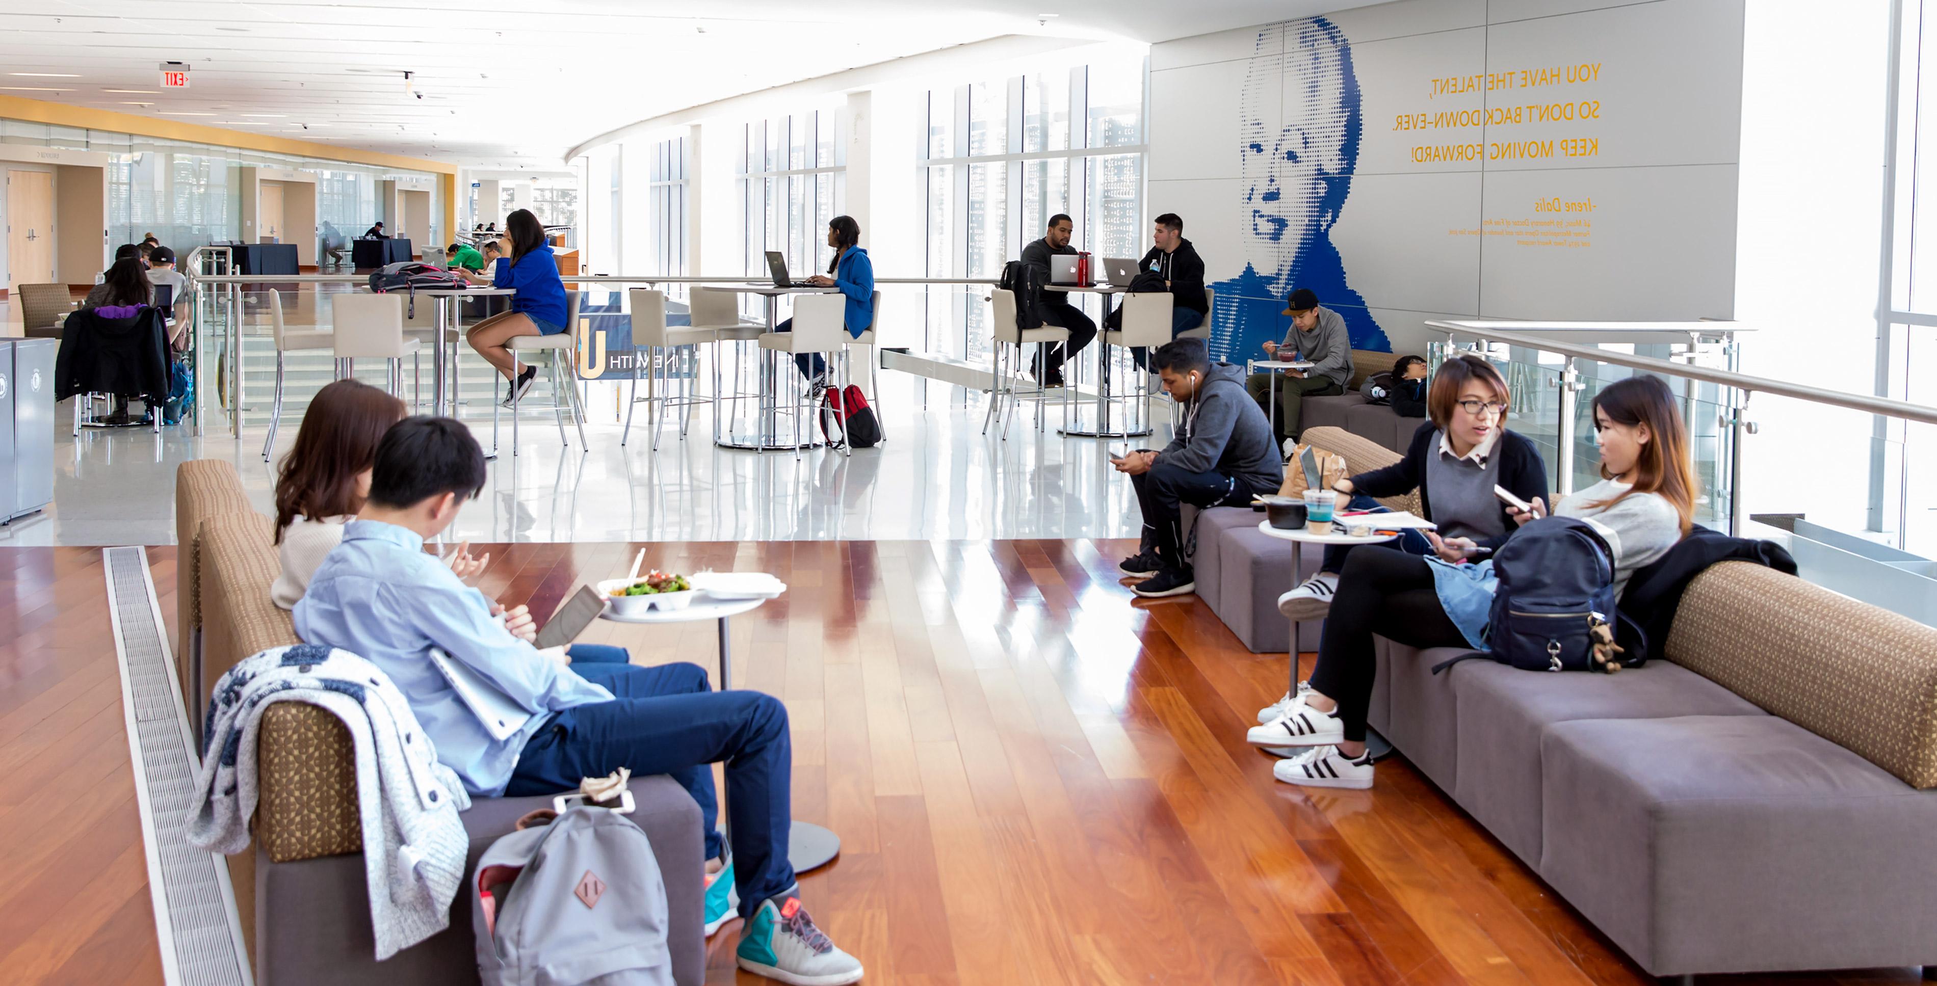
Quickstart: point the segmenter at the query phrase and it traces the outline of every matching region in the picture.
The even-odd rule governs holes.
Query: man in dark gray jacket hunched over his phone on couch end
[[[1184,558],[1184,504],[1244,506],[1276,492],[1282,461],[1271,422],[1244,391],[1244,370],[1213,364],[1203,339],[1176,339],[1153,360],[1164,389],[1184,407],[1184,422],[1162,451],[1125,451],[1110,463],[1129,475],[1143,508],[1143,546],[1122,564],[1125,575],[1145,579],[1131,591],[1176,597],[1197,591]]]

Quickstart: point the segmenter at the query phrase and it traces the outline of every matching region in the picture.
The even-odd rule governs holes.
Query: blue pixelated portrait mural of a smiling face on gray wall
[[[1271,108],[1282,93],[1282,114]],[[1284,296],[1307,287],[1338,312],[1352,349],[1389,353],[1385,329],[1346,283],[1331,242],[1364,130],[1352,45],[1325,17],[1304,17],[1257,33],[1257,54],[1238,103],[1244,186],[1244,273],[1218,281],[1211,353],[1242,362],[1284,337]]]

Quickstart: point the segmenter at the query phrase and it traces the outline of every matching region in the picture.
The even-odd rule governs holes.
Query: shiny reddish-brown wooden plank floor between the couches
[[[482,585],[550,612],[637,546],[490,546]],[[1402,759],[1304,792],[1244,742],[1284,655],[1193,599],[1143,602],[1127,544],[649,544],[765,570],[736,686],[781,695],[794,817],[841,833],[802,879],[870,984],[1652,982]],[[174,612],[170,548],[151,548]],[[157,984],[101,552],[0,548],[6,982]],[[637,662],[713,666],[711,624],[595,624]],[[736,976],[738,926],[707,982]],[[1918,971],[1703,982],[1914,982]]]

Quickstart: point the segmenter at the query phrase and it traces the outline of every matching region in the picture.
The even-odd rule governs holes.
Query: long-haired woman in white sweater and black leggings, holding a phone
[[[1581,517],[1608,540],[1619,599],[1635,570],[1668,554],[1687,535],[1697,482],[1681,411],[1660,378],[1635,376],[1604,387],[1594,397],[1594,444],[1600,446],[1602,482],[1561,500],[1553,513]],[[1548,513],[1544,496],[1524,500],[1532,509],[1507,508],[1515,529]],[[1435,548],[1449,544],[1441,540]],[[1445,550],[1439,554],[1445,558]],[[1476,616],[1468,602],[1470,593],[1488,591],[1482,585],[1443,577],[1426,558],[1397,550],[1352,552],[1325,620],[1309,692],[1294,695],[1278,719],[1247,736],[1253,746],[1307,748],[1278,761],[1273,775],[1304,786],[1369,788],[1366,711],[1375,668],[1373,633],[1408,647],[1476,647],[1486,612],[1480,608]]]

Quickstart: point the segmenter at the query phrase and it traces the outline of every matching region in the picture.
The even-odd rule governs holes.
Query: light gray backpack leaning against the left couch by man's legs
[[[533,812],[484,850],[471,895],[484,986],[672,986],[666,881],[626,816]]]

